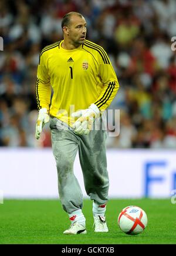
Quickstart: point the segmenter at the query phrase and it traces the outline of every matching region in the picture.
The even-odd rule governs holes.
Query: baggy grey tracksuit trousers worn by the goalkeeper
[[[87,195],[97,204],[108,201],[109,177],[106,163],[106,131],[92,130],[76,135],[72,128],[57,118],[50,118],[53,155],[56,159],[59,197],[63,210],[72,213],[83,207],[83,195],[73,172],[79,150]]]

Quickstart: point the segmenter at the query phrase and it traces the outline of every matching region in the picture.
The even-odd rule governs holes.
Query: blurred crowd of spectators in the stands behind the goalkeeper
[[[84,16],[87,39],[106,49],[119,79],[110,109],[120,109],[120,134],[107,147],[176,148],[175,0],[1,0],[0,146],[50,147],[49,125],[34,136],[36,69],[70,11]]]

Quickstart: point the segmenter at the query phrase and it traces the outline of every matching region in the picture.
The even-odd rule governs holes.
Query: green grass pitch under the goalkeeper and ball
[[[136,236],[117,225],[119,212],[137,205],[147,213],[148,225]],[[164,200],[110,200],[108,233],[94,233],[92,201],[84,200],[87,234],[63,235],[69,218],[59,200],[5,200],[0,204],[0,244],[176,244],[176,204]]]

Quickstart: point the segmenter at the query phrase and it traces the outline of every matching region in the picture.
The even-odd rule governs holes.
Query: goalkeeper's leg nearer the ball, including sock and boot
[[[80,137],[79,157],[85,189],[87,195],[93,200],[94,222],[97,223],[95,231],[107,232],[105,212],[109,175],[106,161],[106,131],[93,130],[89,135]]]

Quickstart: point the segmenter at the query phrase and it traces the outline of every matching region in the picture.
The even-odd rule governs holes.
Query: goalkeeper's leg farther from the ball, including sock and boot
[[[84,232],[83,195],[73,172],[79,141],[73,131],[65,129],[63,122],[60,122],[57,118],[51,118],[50,128],[53,155],[56,159],[59,197],[63,210],[69,214],[70,221],[74,224],[71,230],[66,230],[64,234],[77,234],[77,231]],[[77,223],[82,225],[83,228],[79,227]]]

